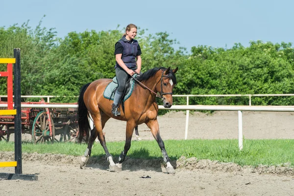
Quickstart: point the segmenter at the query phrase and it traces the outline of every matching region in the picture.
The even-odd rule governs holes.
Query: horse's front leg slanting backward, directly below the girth
[[[135,125],[136,124],[134,122],[127,122],[126,123],[125,144],[124,144],[123,151],[119,157],[119,163],[116,164],[118,170],[120,170],[120,171],[123,170],[123,161],[125,159],[127,151],[131,147],[131,140],[132,140],[132,135],[134,132]]]

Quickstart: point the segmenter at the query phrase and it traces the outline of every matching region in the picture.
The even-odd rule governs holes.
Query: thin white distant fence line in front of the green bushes
[[[232,95],[172,95],[172,97],[186,97],[187,99],[187,105],[189,105],[189,98],[190,97],[248,97],[249,103],[248,105],[251,105],[251,98],[252,97],[291,97],[294,96],[294,94],[232,94]],[[66,98],[66,97],[72,97],[72,98],[78,98],[78,96],[53,96],[53,95],[45,95],[45,96],[39,96],[39,95],[23,95],[22,98],[47,98],[47,102],[50,102],[50,98]],[[7,98],[7,95],[0,95],[1,98]]]

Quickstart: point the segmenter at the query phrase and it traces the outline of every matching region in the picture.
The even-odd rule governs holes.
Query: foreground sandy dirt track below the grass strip
[[[1,153],[0,160],[12,157]],[[92,158],[86,169],[79,157],[23,154],[23,173],[38,181],[0,180],[2,196],[293,196],[294,170],[241,168],[232,163],[186,159],[176,162],[175,174],[167,174],[161,160],[126,159],[123,172],[108,172],[105,159]],[[0,168],[14,172],[14,168]],[[146,178],[149,176],[150,178]]]

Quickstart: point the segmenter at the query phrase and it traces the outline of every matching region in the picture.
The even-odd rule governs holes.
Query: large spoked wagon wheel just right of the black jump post
[[[50,136],[50,127],[46,111],[39,112],[36,116],[32,127],[32,139],[34,144],[44,143],[46,141],[51,141],[51,143],[54,142],[55,127],[52,117],[50,117],[50,119],[52,124],[52,136]]]

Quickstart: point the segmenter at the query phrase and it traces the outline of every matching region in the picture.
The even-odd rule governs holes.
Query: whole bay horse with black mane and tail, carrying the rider
[[[172,106],[172,90],[174,85],[176,85],[175,73],[177,70],[178,68],[171,70],[170,67],[168,69],[163,67],[153,68],[138,76],[131,96],[124,101],[124,110],[121,109],[121,116],[112,115],[113,101],[103,97],[104,89],[112,79],[98,79],[92,83],[85,84],[81,88],[77,115],[79,127],[78,142],[82,140],[89,141],[85,154],[80,161],[81,169],[83,169],[91,156],[93,143],[98,137],[105,151],[106,160],[109,162],[109,170],[112,172],[122,171],[123,161],[131,147],[134,128],[138,124],[146,123],[161,149],[163,160],[167,165],[167,172],[175,173],[159,133],[156,97],[162,98],[165,108]],[[122,108],[122,105],[120,108]],[[92,116],[95,125],[92,130],[88,121],[89,114]],[[114,163],[113,157],[106,147],[105,136],[102,131],[105,123],[110,118],[126,121],[125,145],[117,164]],[[91,135],[89,134],[90,130]]]

